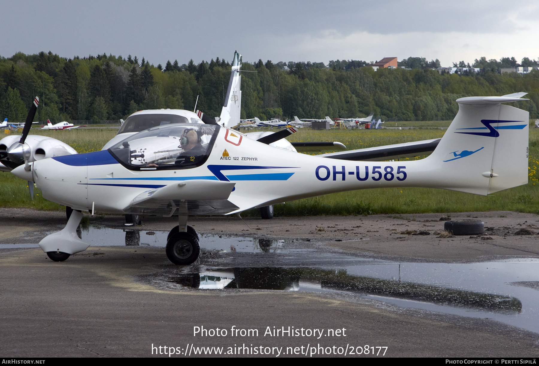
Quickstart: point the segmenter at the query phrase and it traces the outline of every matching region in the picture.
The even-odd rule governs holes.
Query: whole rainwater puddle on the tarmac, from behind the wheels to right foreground
[[[88,227],[92,247],[163,248],[167,231]],[[201,264],[166,266],[137,280],[169,290],[256,289],[349,293],[403,308],[494,319],[539,333],[539,259],[408,263],[361,258],[301,240],[201,235]],[[2,244],[32,248],[37,244]]]

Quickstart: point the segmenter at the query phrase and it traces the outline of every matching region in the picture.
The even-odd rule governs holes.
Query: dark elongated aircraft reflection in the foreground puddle
[[[186,279],[196,278],[200,280]],[[440,305],[519,313],[522,303],[507,295],[458,290],[399,280],[349,275],[346,270],[312,268],[233,268],[203,271],[193,275],[164,279],[175,284],[196,288],[253,288],[285,291],[347,291],[360,294],[385,295],[401,299],[429,301]],[[304,286],[305,284],[306,286]]]

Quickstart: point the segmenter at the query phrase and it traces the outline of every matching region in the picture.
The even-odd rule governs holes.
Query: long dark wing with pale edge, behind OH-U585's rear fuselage
[[[343,159],[354,161],[382,161],[399,158],[414,157],[420,154],[431,153],[436,149],[440,138],[407,142],[404,144],[368,147],[367,149],[350,150],[346,152],[331,152],[319,156],[330,159]]]

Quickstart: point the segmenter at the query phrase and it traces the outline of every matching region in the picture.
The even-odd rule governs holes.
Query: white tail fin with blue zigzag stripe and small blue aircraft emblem
[[[426,159],[453,191],[487,195],[527,184],[529,113],[508,96],[457,100],[459,112]]]

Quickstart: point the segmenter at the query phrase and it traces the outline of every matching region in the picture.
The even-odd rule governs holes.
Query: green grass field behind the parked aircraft
[[[432,123],[445,123],[433,121]],[[419,122],[413,122],[417,125]],[[429,122],[425,122],[428,124]],[[429,126],[432,127],[432,126]],[[73,146],[79,153],[100,150],[118,130],[85,129],[72,131],[32,130],[32,134],[46,135],[62,140]],[[244,132],[242,130],[242,132]],[[245,132],[248,132],[245,131]],[[307,128],[294,133],[291,141],[338,141],[348,150],[365,147],[398,144],[409,141],[442,137],[445,130],[322,130]],[[451,213],[466,211],[516,210],[539,213],[539,129],[530,128],[529,182],[527,185],[507,189],[492,196],[445,191],[432,188],[379,188],[328,194],[275,205],[277,216],[315,216],[315,215],[365,215],[365,214],[407,214],[407,213]],[[330,151],[325,151],[330,152]],[[422,157],[407,158],[416,160]],[[44,200],[36,189],[32,201],[26,181],[11,173],[0,174],[0,207],[33,207],[43,210],[63,210],[64,207]],[[258,216],[258,210],[245,212],[244,216]]]

